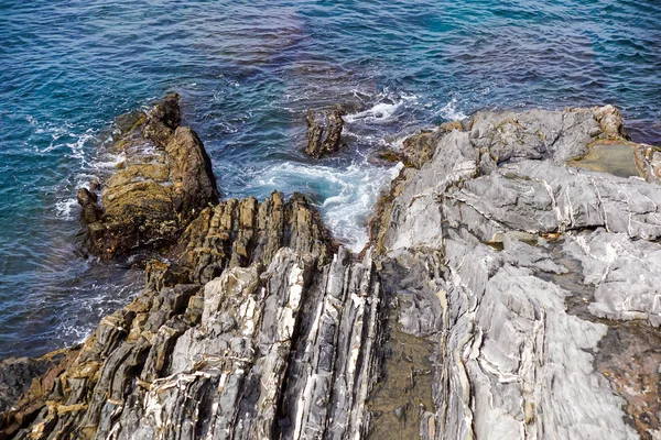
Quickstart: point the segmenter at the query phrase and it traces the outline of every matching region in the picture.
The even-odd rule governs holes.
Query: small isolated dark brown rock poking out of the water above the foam
[[[307,146],[305,154],[319,158],[334,153],[342,146],[342,111],[307,110]]]

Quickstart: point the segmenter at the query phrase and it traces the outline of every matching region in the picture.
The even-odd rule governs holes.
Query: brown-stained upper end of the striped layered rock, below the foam
[[[250,197],[207,208],[191,222],[173,253],[192,270],[192,280],[204,284],[226,267],[267,264],[282,246],[322,263],[335,249],[318,212],[300,194],[286,201],[273,193],[261,204]]]

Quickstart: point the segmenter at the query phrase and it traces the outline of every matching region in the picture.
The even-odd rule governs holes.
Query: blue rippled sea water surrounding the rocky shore
[[[113,118],[170,91],[224,197],[303,191],[359,249],[416,129],[483,108],[614,103],[661,144],[658,0],[0,2],[0,358],[74,343],[141,283],[77,252],[75,190],[110,168]],[[305,158],[307,107],[348,109]]]

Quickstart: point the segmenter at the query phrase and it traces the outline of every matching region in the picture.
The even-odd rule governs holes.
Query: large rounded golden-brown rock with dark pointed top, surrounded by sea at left
[[[218,202],[202,141],[178,125],[178,99],[169,96],[123,128],[115,148],[126,162],[105,183],[101,206],[94,193],[78,190],[91,253],[112,258],[136,248],[170,244],[202,209]]]

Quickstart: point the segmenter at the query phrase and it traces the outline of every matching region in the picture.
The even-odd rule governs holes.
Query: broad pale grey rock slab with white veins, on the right
[[[595,143],[642,147],[624,139],[619,113],[480,112],[424,136],[437,140],[433,155],[393,182],[372,224],[380,254],[426,262],[408,288],[412,310],[400,311],[440,365],[422,438],[659,436],[649,395],[622,393],[659,372],[614,377],[630,361],[622,338],[605,337],[637,338],[621,330],[631,320],[658,333],[661,190],[567,166]]]

